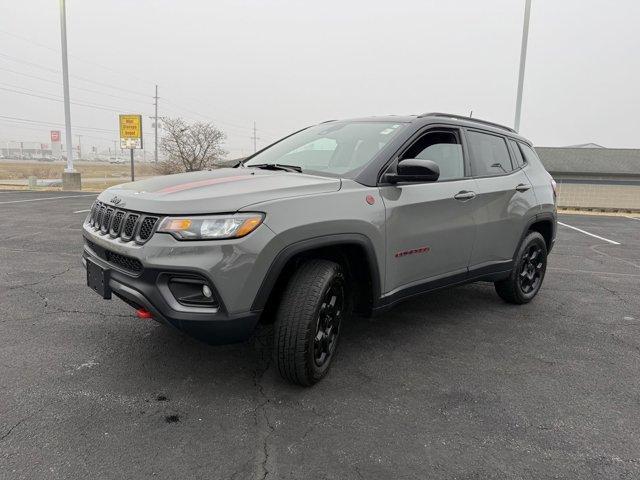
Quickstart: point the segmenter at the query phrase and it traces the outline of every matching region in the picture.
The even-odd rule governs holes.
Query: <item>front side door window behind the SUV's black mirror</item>
[[[402,155],[405,158],[432,160],[440,167],[438,181],[464,178],[462,145],[454,132],[435,131],[424,134]]]

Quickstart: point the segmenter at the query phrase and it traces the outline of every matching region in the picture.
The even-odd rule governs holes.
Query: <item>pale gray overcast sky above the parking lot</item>
[[[117,112],[153,114],[156,83],[161,115],[215,122],[231,156],[253,150],[254,121],[259,146],[368,115],[473,110],[512,125],[523,12],[524,0],[68,0],[71,99],[102,108],[72,106],[74,142],[112,145]],[[639,23],[637,0],[533,0],[521,133],[640,147]],[[45,123],[64,122],[62,103],[33,96],[62,96],[59,28],[55,0],[1,3],[0,141],[48,143]]]

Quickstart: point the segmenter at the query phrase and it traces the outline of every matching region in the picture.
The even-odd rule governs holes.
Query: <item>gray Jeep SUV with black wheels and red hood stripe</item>
[[[84,223],[87,283],[210,343],[274,323],[282,376],[328,371],[355,312],[474,281],[538,293],[555,183],[508,127],[442,113],[329,121],[234,168],[118,185]]]

